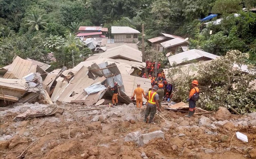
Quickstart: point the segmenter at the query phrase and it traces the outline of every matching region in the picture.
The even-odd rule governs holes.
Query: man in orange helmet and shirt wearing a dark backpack
[[[189,115],[186,115],[186,117],[188,118],[193,116],[195,113],[196,101],[199,98],[199,88],[197,86],[198,86],[198,81],[193,80],[192,89],[190,90],[190,93],[189,93],[189,98],[186,100],[187,102],[189,102]]]

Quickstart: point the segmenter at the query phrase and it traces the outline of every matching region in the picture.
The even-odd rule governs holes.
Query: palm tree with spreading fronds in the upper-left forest
[[[42,19],[39,14],[33,10],[29,17],[27,17],[27,20],[25,20],[26,26],[30,27],[30,30],[36,29],[45,29],[47,22],[45,19]]]

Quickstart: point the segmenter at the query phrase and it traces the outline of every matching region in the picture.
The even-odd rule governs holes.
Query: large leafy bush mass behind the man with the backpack
[[[248,57],[248,53],[232,50],[210,63],[170,68],[168,77],[171,79],[175,77],[174,98],[185,101],[191,81],[197,79],[201,92],[198,101],[200,107],[217,110],[218,107],[225,106],[233,107],[241,114],[254,112],[256,91],[252,89],[250,82],[256,76],[254,73],[245,73],[240,68],[245,64],[244,59]],[[234,67],[234,64],[239,67]],[[248,71],[252,69],[253,67],[249,65]]]

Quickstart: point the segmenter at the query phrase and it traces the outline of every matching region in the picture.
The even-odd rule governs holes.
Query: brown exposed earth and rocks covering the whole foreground
[[[13,121],[26,110],[49,113],[55,107],[64,113]],[[101,110],[83,110],[90,108]],[[155,124],[142,122],[143,114],[132,103],[114,108],[66,103],[0,108],[0,158],[256,158],[256,112],[238,116],[221,108],[186,118],[186,113],[164,110]],[[236,132],[247,135],[248,143],[238,140]]]

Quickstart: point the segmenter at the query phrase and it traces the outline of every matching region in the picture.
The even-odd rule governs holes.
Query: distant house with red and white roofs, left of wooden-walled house
[[[101,26],[80,26],[78,30],[76,36],[85,38],[105,38],[108,32],[108,28],[102,28]]]

